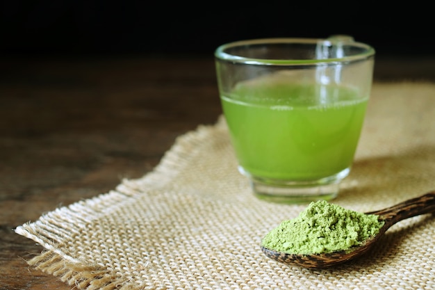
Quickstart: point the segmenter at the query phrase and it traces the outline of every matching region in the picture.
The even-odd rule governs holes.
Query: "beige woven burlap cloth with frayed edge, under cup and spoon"
[[[334,200],[372,211],[435,188],[435,84],[375,83],[352,172]],[[258,200],[227,128],[180,136],[161,163],[16,232],[28,261],[77,289],[435,289],[435,218],[393,225],[368,255],[324,270],[268,259],[261,238],[306,204]]]

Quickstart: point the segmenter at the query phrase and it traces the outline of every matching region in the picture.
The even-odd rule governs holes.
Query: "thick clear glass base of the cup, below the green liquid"
[[[349,175],[350,168],[336,175],[310,181],[286,181],[254,177],[239,167],[251,183],[257,198],[269,202],[288,204],[309,203],[318,200],[333,200],[337,197],[340,182]]]

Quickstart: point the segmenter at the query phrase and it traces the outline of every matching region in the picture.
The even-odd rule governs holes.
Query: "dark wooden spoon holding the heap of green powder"
[[[372,245],[374,245],[383,234],[385,234],[388,228],[400,222],[400,220],[432,212],[435,212],[435,191],[426,193],[419,198],[412,198],[411,200],[400,202],[387,209],[367,213],[379,216],[378,219],[384,221],[384,226],[379,229],[379,233],[376,236],[372,236],[361,245],[352,247],[349,250],[313,255],[288,254],[264,248],[263,246],[261,246],[261,250],[266,256],[284,264],[296,264],[305,268],[326,268],[363,255],[370,250]]]

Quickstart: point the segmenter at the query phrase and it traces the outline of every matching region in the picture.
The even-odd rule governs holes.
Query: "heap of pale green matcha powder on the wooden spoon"
[[[311,202],[293,220],[284,220],[263,238],[265,248],[288,254],[348,250],[375,236],[384,222],[377,216],[344,209],[325,200]]]

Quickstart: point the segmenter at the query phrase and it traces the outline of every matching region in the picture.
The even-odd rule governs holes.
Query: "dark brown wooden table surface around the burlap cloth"
[[[213,124],[213,56],[0,63],[0,290],[71,289],[26,264],[42,247],[13,229],[141,177],[177,136]],[[377,59],[375,81],[402,80],[435,81],[435,57]]]

